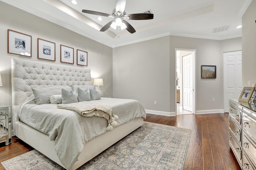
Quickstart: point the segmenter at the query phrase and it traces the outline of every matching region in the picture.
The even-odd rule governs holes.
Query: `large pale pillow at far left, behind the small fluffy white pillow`
[[[49,104],[50,97],[52,95],[61,94],[62,89],[71,90],[69,86],[53,86],[45,88],[32,88],[32,91],[36,99],[36,104]]]

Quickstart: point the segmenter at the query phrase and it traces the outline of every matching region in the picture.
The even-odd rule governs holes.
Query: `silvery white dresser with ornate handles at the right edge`
[[[229,100],[229,145],[243,170],[256,170],[256,105]]]

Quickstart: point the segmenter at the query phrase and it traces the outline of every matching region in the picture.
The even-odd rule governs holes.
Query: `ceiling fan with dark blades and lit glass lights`
[[[126,29],[130,33],[135,33],[134,27],[130,25],[125,20],[151,20],[154,18],[154,14],[127,14],[124,11],[126,5],[126,0],[116,0],[116,8],[112,11],[111,14],[106,14],[102,12],[90,11],[90,10],[82,10],[82,12],[86,14],[93,14],[97,16],[106,16],[110,18],[114,18],[114,20],[108,22],[100,31],[106,31],[108,28],[112,27],[116,29],[117,26],[120,26],[121,29]]]

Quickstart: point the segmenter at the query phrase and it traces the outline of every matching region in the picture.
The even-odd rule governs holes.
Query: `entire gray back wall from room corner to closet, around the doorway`
[[[241,50],[241,41],[167,36],[116,47],[113,96],[134,98],[153,113],[174,115],[175,48],[196,49],[196,113],[223,111],[223,52]],[[201,79],[201,65],[216,65],[217,78]]]

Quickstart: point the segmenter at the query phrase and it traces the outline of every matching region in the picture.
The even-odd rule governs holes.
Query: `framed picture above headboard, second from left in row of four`
[[[37,58],[55,61],[55,43],[38,38]]]

